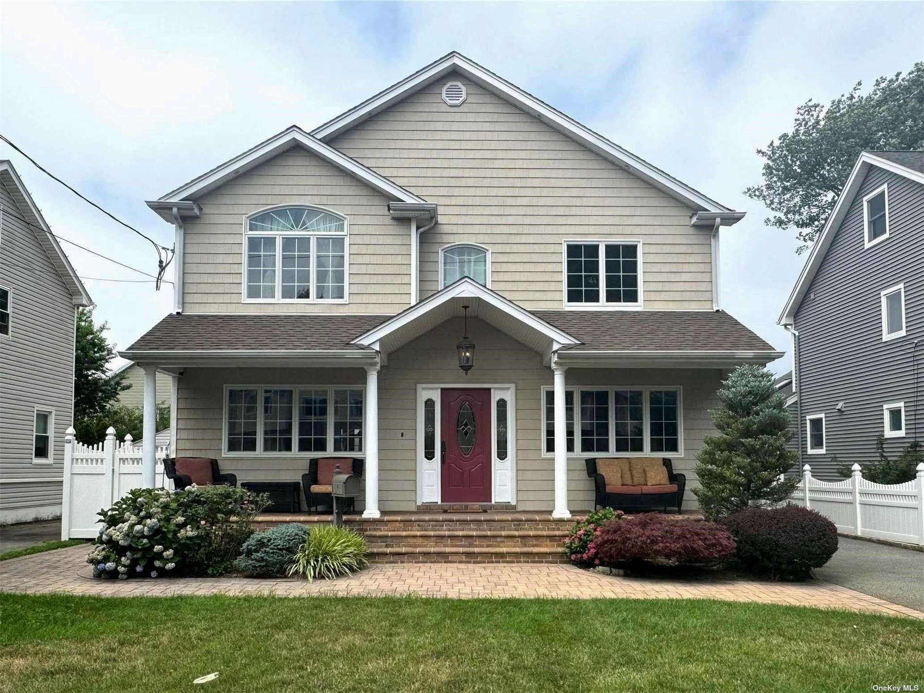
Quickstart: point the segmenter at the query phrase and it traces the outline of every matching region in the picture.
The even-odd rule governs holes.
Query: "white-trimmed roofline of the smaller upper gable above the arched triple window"
[[[302,128],[293,125],[275,134],[268,140],[261,141],[260,144],[251,147],[247,152],[238,154],[233,159],[229,159],[224,164],[216,166],[211,171],[207,171],[201,176],[193,178],[185,185],[171,190],[156,201],[153,201],[153,203],[188,201],[192,198],[199,197],[209,190],[217,188],[231,178],[248,171],[250,168],[261,164],[279,153],[285,152],[296,144],[317,154],[329,164],[333,164],[347,174],[359,178],[371,188],[378,190],[393,201],[425,202],[425,200],[419,198],[409,190],[402,188],[394,181],[389,180],[382,174],[376,173],[369,166],[360,164],[356,159],[335,150],[333,147],[318,140]],[[151,206],[150,202],[149,206]]]

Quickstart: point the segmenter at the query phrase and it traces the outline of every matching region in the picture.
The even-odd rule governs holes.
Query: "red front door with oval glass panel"
[[[443,390],[442,501],[491,503],[491,390]]]

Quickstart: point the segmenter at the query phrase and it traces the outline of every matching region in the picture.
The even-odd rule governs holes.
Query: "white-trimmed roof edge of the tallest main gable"
[[[320,140],[332,140],[366,118],[374,116],[393,103],[423,89],[436,79],[440,79],[453,71],[471,79],[484,89],[492,91],[498,97],[526,111],[531,116],[540,118],[546,125],[577,141],[577,143],[587,147],[590,151],[600,154],[604,159],[638,176],[655,188],[663,190],[675,200],[684,202],[695,211],[733,212],[728,207],[711,200],[698,190],[690,188],[687,184],[664,173],[660,168],[649,164],[632,152],[627,152],[587,126],[581,125],[574,118],[565,116],[564,113],[553,108],[548,103],[542,102],[515,84],[495,75],[491,70],[481,67],[475,61],[456,51],[444,55],[426,67],[421,67],[414,74],[371,96],[366,101],[346,111],[346,113],[336,116],[333,120],[329,120],[318,128],[314,128],[311,130],[311,134]],[[726,221],[726,225],[735,223],[739,218],[740,216],[734,221]]]

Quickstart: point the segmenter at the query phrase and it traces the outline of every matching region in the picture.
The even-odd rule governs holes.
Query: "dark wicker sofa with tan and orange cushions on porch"
[[[656,458],[655,458],[656,459]],[[599,465],[598,461],[606,461],[606,465]],[[675,507],[677,513],[684,502],[684,489],[687,486],[687,477],[684,474],[675,473],[671,460],[663,457],[660,461],[667,472],[668,483],[648,484],[648,483],[625,483],[620,479],[607,479],[602,473],[608,471],[613,474],[613,465],[611,460],[616,460],[622,464],[622,460],[628,460],[631,466],[632,461],[638,462],[638,467],[644,464],[650,465],[650,457],[590,457],[584,460],[587,466],[587,475],[593,480],[594,485],[594,509],[598,507],[612,507],[614,510],[656,510],[663,508],[666,512],[668,507]],[[638,481],[638,478],[634,479]]]

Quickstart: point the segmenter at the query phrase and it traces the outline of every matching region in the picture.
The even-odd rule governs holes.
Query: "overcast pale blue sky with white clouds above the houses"
[[[722,232],[723,308],[780,349],[805,256],[742,194],[796,105],[924,57],[922,3],[5,3],[0,132],[156,238],[145,205],[291,124],[311,129],[458,50],[748,213]],[[55,233],[148,272],[147,241],[0,143]],[[144,279],[65,244],[83,277]],[[2,269],[2,268],[0,268]],[[172,278],[172,277],[171,277]],[[86,279],[119,348],[172,307],[171,286]],[[788,370],[791,359],[772,364]]]

